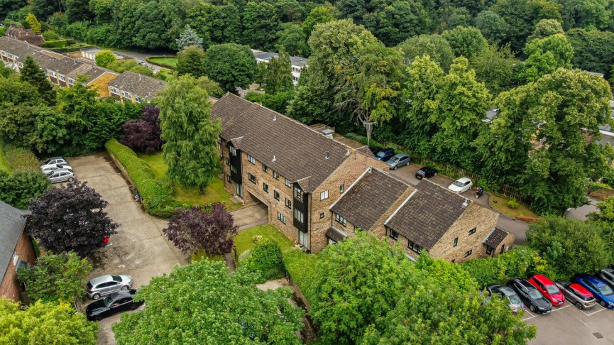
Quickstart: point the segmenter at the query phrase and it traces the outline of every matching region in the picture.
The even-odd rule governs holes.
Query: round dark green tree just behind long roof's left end
[[[214,45],[204,55],[204,72],[225,91],[249,87],[256,72],[256,58],[246,45]]]

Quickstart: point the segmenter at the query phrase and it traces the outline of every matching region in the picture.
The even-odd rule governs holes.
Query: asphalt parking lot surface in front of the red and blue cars
[[[526,310],[522,319],[537,326],[530,344],[614,344],[614,310],[601,305],[579,310],[567,301],[546,315]]]

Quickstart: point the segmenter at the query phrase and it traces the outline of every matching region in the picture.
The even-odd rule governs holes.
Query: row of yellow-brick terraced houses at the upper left
[[[148,103],[166,85],[153,77],[128,71],[118,73],[23,40],[0,37],[0,57],[6,67],[20,72],[27,56],[38,63],[57,87],[72,87],[81,80],[95,89],[99,97],[117,97],[121,102]]]

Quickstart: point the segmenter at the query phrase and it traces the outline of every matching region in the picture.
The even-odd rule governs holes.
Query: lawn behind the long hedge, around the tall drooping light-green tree
[[[163,177],[166,174],[168,166],[162,159],[162,152],[152,154],[137,153],[137,155],[138,158],[141,158],[150,166],[156,177]],[[185,189],[175,184],[175,199],[182,204],[204,205],[221,202],[229,211],[241,208],[241,204],[231,202],[230,197],[230,193],[224,190],[224,182],[217,177],[209,182],[209,186],[205,188],[203,195],[199,193],[198,188]]]

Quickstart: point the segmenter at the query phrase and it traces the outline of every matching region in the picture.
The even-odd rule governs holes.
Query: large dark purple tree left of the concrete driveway
[[[31,200],[26,229],[53,253],[87,256],[104,246],[105,236],[116,234],[118,224],[104,212],[108,204],[86,182],[69,182]]]

